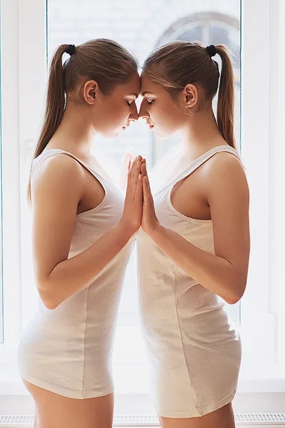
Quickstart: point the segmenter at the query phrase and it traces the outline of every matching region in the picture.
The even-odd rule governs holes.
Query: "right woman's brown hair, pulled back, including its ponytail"
[[[212,58],[216,54],[221,56],[221,75],[218,63]],[[152,52],[144,61],[143,70],[154,83],[169,91],[174,100],[188,83],[199,84],[211,100],[219,86],[216,114],[219,131],[226,143],[236,148],[234,71],[226,46],[204,48],[200,42],[172,41]]]

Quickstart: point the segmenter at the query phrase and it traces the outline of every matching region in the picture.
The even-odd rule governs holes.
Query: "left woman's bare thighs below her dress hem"
[[[36,405],[36,428],[112,427],[114,394],[74,399],[54,394],[26,381],[24,384]]]

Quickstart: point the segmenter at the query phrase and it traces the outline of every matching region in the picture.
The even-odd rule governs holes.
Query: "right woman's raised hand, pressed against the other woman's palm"
[[[148,235],[156,230],[159,227],[159,220],[156,217],[156,212],[154,209],[154,199],[151,195],[151,188],[149,185],[149,177],[146,170],[146,161],[143,159],[141,163],[141,174],[143,175],[143,210],[141,218],[141,228]]]

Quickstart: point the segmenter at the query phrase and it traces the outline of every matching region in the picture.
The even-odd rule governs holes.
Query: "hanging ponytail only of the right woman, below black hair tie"
[[[221,77],[219,84],[217,122],[219,131],[229,144],[236,148],[234,140],[234,71],[229,51],[223,45],[216,45],[216,53],[221,56]]]

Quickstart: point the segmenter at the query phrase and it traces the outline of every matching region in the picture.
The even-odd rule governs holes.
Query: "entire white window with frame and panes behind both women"
[[[216,40],[217,34],[221,34],[229,40],[231,49],[239,52],[239,41],[236,39],[239,34],[236,26],[236,23],[239,24],[240,16],[239,1],[106,0],[100,6],[96,4],[96,8],[94,2],[87,0],[80,2],[71,0],[67,6],[66,0],[49,0],[47,3],[48,14],[44,0],[1,1],[5,304],[4,345],[0,344],[0,370],[3,367],[5,374],[6,367],[11,363],[11,357],[14,357],[21,327],[29,321],[37,305],[31,270],[26,180],[29,175],[29,153],[36,141],[43,116],[47,36],[49,58],[58,44],[63,42],[79,44],[86,39],[102,36],[117,39],[134,49],[140,62],[155,46],[171,37],[173,39],[193,37],[208,44],[208,41]],[[282,229],[284,222],[281,217],[284,210],[278,197],[282,192],[281,183],[284,182],[282,175],[284,173],[280,167],[282,158],[278,154],[283,149],[280,142],[283,135],[281,125],[284,113],[281,115],[281,107],[284,93],[283,86],[279,83],[276,89],[275,83],[276,79],[279,78],[279,81],[281,79],[281,72],[280,76],[276,75],[277,70],[281,71],[281,61],[284,59],[281,58],[277,46],[273,46],[273,41],[271,42],[271,31],[273,34],[279,31],[279,27],[275,26],[275,19],[276,22],[281,20],[284,11],[283,14],[280,13],[280,17],[272,17],[269,0],[261,0],[259,2],[261,14],[256,20],[256,6],[246,1],[242,6],[242,85],[239,89],[237,62],[236,91],[241,91],[243,101],[241,154],[246,163],[251,188],[251,261],[248,287],[240,308],[244,365],[247,367],[246,376],[241,372],[241,387],[244,387],[244,379],[251,379],[251,374],[260,379],[260,372],[264,374],[268,363],[275,367],[278,355],[285,355],[285,323],[282,307],[284,269],[281,253],[285,239],[284,228]],[[213,18],[211,25],[209,16]],[[211,28],[211,31],[206,30],[207,28]],[[283,27],[280,24],[281,28]],[[282,40],[281,30],[279,40]],[[262,61],[264,57],[270,58],[270,61]],[[236,58],[239,58],[239,55]],[[274,85],[271,85],[271,81]],[[269,90],[273,95],[269,96]],[[278,103],[274,97],[278,99]],[[270,114],[271,111],[275,112],[277,107],[279,116],[275,116],[275,113]],[[239,126],[239,121],[237,123]],[[275,133],[275,136],[269,139],[271,133],[272,135]],[[239,131],[236,132],[236,137],[239,138]],[[166,146],[163,146],[164,150],[166,147],[174,147],[175,144],[174,141],[163,143],[166,143]],[[129,128],[123,138],[114,141],[98,139],[96,149],[98,148],[106,162],[106,168],[110,170],[110,166],[116,166],[114,176],[118,178],[123,152],[141,151],[143,156],[154,163],[162,153],[162,146],[159,144],[159,141],[154,141],[152,134],[141,121]],[[276,165],[279,166],[279,175],[274,175]],[[277,188],[277,181],[280,190],[278,195],[277,190],[274,190]],[[275,205],[271,205],[272,200]],[[279,254],[279,258],[275,257],[276,253]],[[129,275],[133,273],[130,271]],[[134,287],[128,288],[126,285],[122,305],[125,305],[126,309],[120,313],[114,358],[117,392],[146,392],[145,356],[141,342],[137,340],[139,333],[136,325]],[[279,354],[276,352],[277,339]]]

